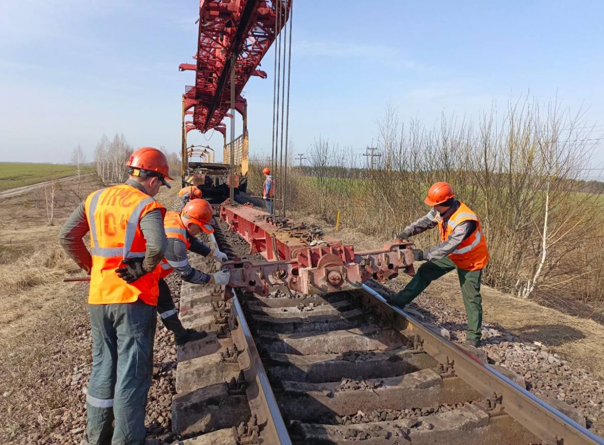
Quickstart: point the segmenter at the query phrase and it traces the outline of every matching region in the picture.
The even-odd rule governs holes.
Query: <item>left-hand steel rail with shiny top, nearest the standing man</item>
[[[256,415],[259,426],[263,426],[260,437],[263,443],[266,444],[291,445],[292,441],[289,438],[288,429],[281,416],[262,360],[260,360],[254,337],[252,337],[248,322],[243,314],[243,308],[235,291],[231,291],[233,291],[233,299],[231,300],[233,303],[231,306],[232,318],[230,319],[230,324],[233,324],[231,333],[233,339],[238,337],[244,343],[243,350],[238,352],[244,354],[247,359],[247,363],[244,362],[242,366],[247,383],[246,394],[248,395],[249,408],[252,414]]]

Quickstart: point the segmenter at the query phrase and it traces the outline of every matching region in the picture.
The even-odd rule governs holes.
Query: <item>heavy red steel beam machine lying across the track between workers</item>
[[[323,294],[361,288],[368,279],[384,282],[399,274],[413,276],[414,244],[396,241],[367,252],[323,233],[318,227],[277,218],[251,204],[220,206],[220,219],[249,244],[250,253],[260,253],[266,262],[239,258],[222,267],[231,272],[228,287],[242,288],[262,296],[269,287],[286,285],[303,294]],[[225,297],[230,296],[226,289]]]

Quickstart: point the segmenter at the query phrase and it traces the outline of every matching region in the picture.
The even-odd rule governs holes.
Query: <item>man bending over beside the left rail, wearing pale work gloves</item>
[[[162,262],[161,279],[159,280],[159,299],[157,310],[165,327],[174,333],[176,345],[184,345],[193,340],[204,338],[205,331],[185,329],[178,318],[178,310],[170,294],[170,288],[164,281],[165,276],[173,270],[181,276],[184,281],[193,284],[228,284],[230,273],[223,270],[208,275],[197,270],[188,262],[187,251],[198,253],[202,256],[213,256],[219,261],[226,261],[225,253],[210,248],[196,238],[202,231],[214,233],[210,224],[212,219],[212,206],[205,200],[189,201],[180,213],[167,212],[164,218],[165,235],[168,238],[168,247],[165,251],[165,259]]]

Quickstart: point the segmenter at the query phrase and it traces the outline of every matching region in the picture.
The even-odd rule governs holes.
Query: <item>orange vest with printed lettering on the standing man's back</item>
[[[127,284],[115,272],[121,260],[143,258],[147,242],[139,222],[144,215],[164,207],[136,187],[127,184],[97,190],[88,195],[84,208],[90,228],[90,293],[88,304],[132,303],[137,299],[157,305],[158,267]]]

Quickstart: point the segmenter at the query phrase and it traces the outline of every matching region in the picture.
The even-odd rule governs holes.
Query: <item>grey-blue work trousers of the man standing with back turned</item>
[[[88,305],[88,310],[93,340],[86,396],[88,442],[143,445],[157,308],[137,300]]]

